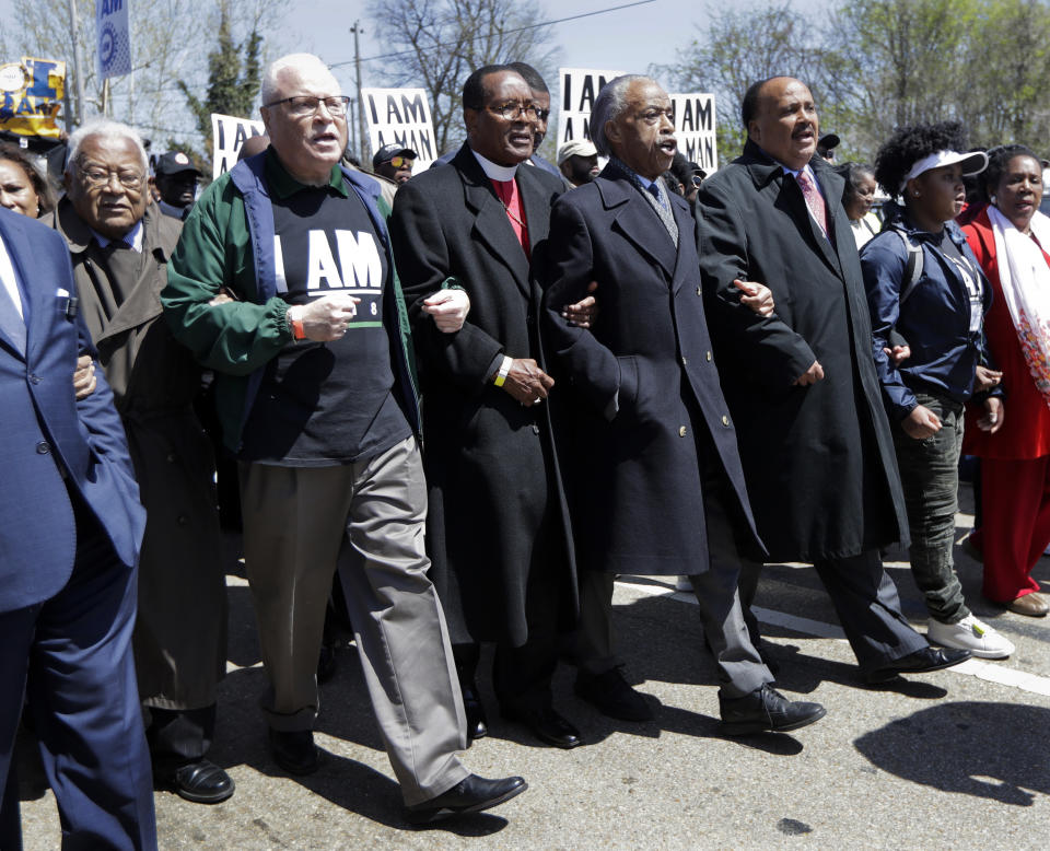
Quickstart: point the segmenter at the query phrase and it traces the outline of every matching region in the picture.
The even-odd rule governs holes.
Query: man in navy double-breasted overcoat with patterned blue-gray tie
[[[736,538],[761,545],[711,357],[697,222],[660,177],[675,154],[670,115],[667,93],[646,77],[602,89],[591,130],[609,164],[555,205],[538,264],[545,345],[570,377],[561,398],[571,409],[564,468],[583,569],[578,691],[607,714],[644,719],[641,706],[631,716],[639,698],[618,681],[608,640],[612,576],[686,574],[719,664],[723,728],[796,730],[824,708],[771,688],[737,597]],[[592,280],[602,303],[593,331],[561,315]]]

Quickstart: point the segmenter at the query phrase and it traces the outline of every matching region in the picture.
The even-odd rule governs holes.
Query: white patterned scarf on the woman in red
[[[1031,217],[1029,226],[1039,245],[991,205],[988,218],[995,235],[1003,298],[1028,371],[1050,406],[1050,266],[1039,249],[1039,245],[1050,248],[1050,218],[1038,210]]]

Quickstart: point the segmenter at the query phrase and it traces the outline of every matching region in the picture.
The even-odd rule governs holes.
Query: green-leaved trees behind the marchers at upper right
[[[837,0],[806,16],[788,5],[713,12],[667,69],[679,91],[713,91],[722,161],[739,153],[747,86],[806,81],[838,159],[871,161],[894,127],[958,119],[975,145],[1050,140],[1046,0]]]

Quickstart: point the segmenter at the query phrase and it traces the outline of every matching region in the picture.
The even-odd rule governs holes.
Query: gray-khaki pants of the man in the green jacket
[[[407,805],[468,776],[466,716],[427,576],[427,489],[415,438],[353,464],[240,465],[244,555],[275,730],[312,730],[337,564],[372,708]]]

